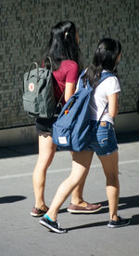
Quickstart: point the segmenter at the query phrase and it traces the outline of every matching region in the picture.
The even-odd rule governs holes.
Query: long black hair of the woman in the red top
[[[76,61],[82,70],[81,50],[78,46],[77,31],[71,21],[58,22],[52,28],[50,41],[45,50],[44,59],[50,56],[53,70],[57,70],[61,61]]]

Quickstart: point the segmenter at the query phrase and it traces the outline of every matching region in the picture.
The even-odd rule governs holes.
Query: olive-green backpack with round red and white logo
[[[49,57],[46,59],[50,62],[50,69],[39,68],[36,62],[32,62],[23,77],[23,108],[32,117],[51,118],[56,111],[52,62]]]

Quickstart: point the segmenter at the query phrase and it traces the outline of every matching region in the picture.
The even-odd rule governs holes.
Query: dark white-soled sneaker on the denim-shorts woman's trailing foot
[[[40,221],[40,224],[44,225],[48,229],[50,229],[53,232],[64,234],[67,233],[66,229],[60,228],[59,222],[51,222],[47,218],[43,217]]]

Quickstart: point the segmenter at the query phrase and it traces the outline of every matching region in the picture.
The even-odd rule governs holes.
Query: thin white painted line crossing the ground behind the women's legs
[[[133,164],[133,163],[139,163],[139,159],[120,161],[119,165],[126,165],[126,164]],[[97,165],[92,164],[92,166],[91,166],[91,168],[101,168],[101,167],[102,167],[101,164],[97,164]],[[48,173],[53,174],[53,173],[66,172],[66,171],[70,171],[70,169],[71,168],[49,169]],[[28,176],[32,176],[32,172],[0,176],[0,180],[20,178],[20,177],[28,177]]]

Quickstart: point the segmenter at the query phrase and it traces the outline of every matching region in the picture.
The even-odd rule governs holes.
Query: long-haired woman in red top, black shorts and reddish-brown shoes
[[[52,61],[56,100],[58,102],[64,92],[61,100],[61,103],[64,105],[74,93],[78,76],[82,71],[81,50],[78,45],[78,34],[73,22],[59,22],[52,28],[44,59],[47,55],[50,56]],[[44,203],[44,185],[46,170],[50,166],[57,149],[57,146],[52,141],[52,126],[56,120],[56,116],[50,119],[36,119],[36,130],[39,136],[39,156],[32,177],[35,206],[31,211],[31,215],[34,217],[43,216],[48,210]],[[87,173],[88,171],[86,171],[86,175],[83,177],[80,185],[72,192],[70,212],[91,213],[101,209],[100,204],[89,204],[82,198]]]

